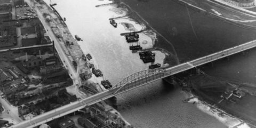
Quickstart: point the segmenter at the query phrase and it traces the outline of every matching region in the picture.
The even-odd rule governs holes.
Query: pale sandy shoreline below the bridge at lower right
[[[236,83],[237,85],[239,84],[245,84],[241,83],[236,80],[233,81],[233,79],[226,79],[226,78],[220,78],[222,81],[228,81],[228,83]],[[208,82],[209,83],[209,82]],[[222,85],[225,86],[225,85]],[[242,87],[242,85],[241,85]],[[239,115],[239,113],[234,113],[232,110],[228,110],[227,108],[223,107],[221,105],[221,102],[225,102],[222,98],[222,100],[217,100],[216,99],[211,99],[211,96],[207,96],[206,94],[198,94],[199,92],[192,92],[192,90],[196,90],[190,83],[188,83],[188,86],[182,87],[182,90],[184,93],[186,93],[188,98],[190,97],[195,97],[193,99],[190,99],[188,102],[197,102],[199,103],[197,106],[198,109],[201,109],[204,113],[209,114],[211,116],[214,116],[217,118],[220,122],[223,124],[229,126],[229,127],[256,127],[255,124],[253,124],[252,120],[250,121],[249,119],[246,119],[243,117],[243,115]],[[188,99],[187,98],[187,99]],[[185,99],[186,100],[186,99]],[[194,104],[194,103],[193,103]],[[220,105],[219,105],[220,104]],[[242,110],[241,110],[242,111]]]

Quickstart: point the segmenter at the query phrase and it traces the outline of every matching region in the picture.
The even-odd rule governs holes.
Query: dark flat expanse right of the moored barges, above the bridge
[[[254,29],[237,26],[178,0],[122,2],[172,43],[180,63],[252,41],[256,37]],[[158,42],[161,41],[158,39]],[[167,47],[161,43],[157,45]]]

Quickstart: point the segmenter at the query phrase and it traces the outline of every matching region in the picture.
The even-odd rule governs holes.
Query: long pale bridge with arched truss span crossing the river
[[[61,116],[73,113],[74,111],[82,109],[85,106],[93,105],[94,103],[114,97],[115,95],[118,95],[120,93],[130,91],[139,86],[157,81],[158,79],[162,79],[162,78],[180,73],[182,71],[186,71],[186,70],[194,68],[196,66],[201,66],[205,63],[212,62],[214,60],[228,57],[231,54],[235,54],[235,53],[242,52],[242,51],[245,51],[248,49],[252,49],[255,46],[256,46],[256,41],[251,41],[251,42],[247,42],[242,45],[231,47],[230,49],[227,49],[227,50],[213,53],[213,54],[207,55],[205,57],[202,57],[202,58],[199,58],[196,60],[192,60],[189,62],[181,63],[180,65],[166,68],[163,70],[159,69],[159,70],[141,71],[141,72],[136,73],[136,74],[140,74],[140,75],[138,75],[138,76],[133,75],[134,76],[133,78],[127,77],[126,78],[127,81],[121,81],[121,84],[116,84],[116,86],[113,86],[113,89],[97,93],[97,94],[92,95],[91,97],[88,97],[85,99],[71,102],[70,104],[68,104],[66,106],[62,106],[60,108],[48,111],[47,113],[38,115],[34,118],[31,118],[27,121],[23,121],[19,124],[15,124],[11,127],[12,128],[35,127],[40,124],[49,122],[55,118],[59,118]]]

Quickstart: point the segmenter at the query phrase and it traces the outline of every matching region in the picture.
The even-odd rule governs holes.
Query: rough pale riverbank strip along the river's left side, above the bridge
[[[87,66],[87,60],[80,59],[84,55],[84,52],[80,48],[80,45],[77,43],[77,41],[71,35],[68,27],[66,26],[66,23],[64,23],[61,20],[60,15],[56,15],[55,12],[53,12],[46,3],[42,1],[40,1],[40,3],[30,3],[29,1],[27,2],[30,4],[30,6],[34,7],[37,13],[41,13],[38,15],[42,15],[43,17],[39,18],[42,18],[41,20],[45,20],[47,22],[47,25],[51,26],[51,30],[47,30],[53,31],[54,36],[58,37],[59,41],[55,43],[60,43],[62,49],[66,51],[66,55],[68,56],[69,61],[73,63],[74,61],[76,61],[78,63],[77,67],[74,66],[76,72],[78,72],[78,76],[74,76],[74,79],[75,81],[77,81],[77,84],[80,84],[81,80],[79,79],[79,74],[85,74],[87,76],[91,74],[91,70]],[[90,79],[90,81],[93,83],[98,82],[95,81],[95,79],[97,78],[91,79],[91,77],[86,77],[86,79]],[[126,126],[130,126],[130,124],[126,124]]]

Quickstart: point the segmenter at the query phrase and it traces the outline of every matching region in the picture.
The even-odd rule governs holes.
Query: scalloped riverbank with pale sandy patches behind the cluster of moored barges
[[[114,3],[116,3],[115,7],[118,7],[119,10],[125,10],[125,14],[129,14],[126,16],[126,18],[118,18],[117,21],[121,21],[121,25],[124,26],[125,30],[139,31],[139,44],[142,46],[143,49],[154,49],[164,53],[164,67],[171,67],[179,64],[179,59],[177,58],[177,53],[175,52],[172,43],[167,41],[164,36],[162,36],[160,33],[158,33],[158,31],[151,27],[150,24],[145,19],[143,19],[137,12],[131,9],[129,5],[118,0]],[[135,21],[135,23],[122,22],[122,19]],[[140,25],[142,28],[135,29],[134,25]]]

